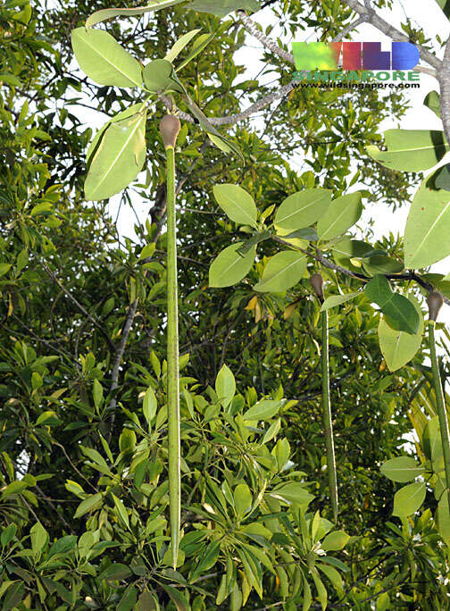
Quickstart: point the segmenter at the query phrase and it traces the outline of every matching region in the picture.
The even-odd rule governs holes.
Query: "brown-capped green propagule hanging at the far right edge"
[[[444,390],[442,389],[439,365],[437,364],[435,338],[437,314],[439,314],[439,310],[444,305],[444,298],[437,291],[433,291],[432,293],[429,293],[429,296],[427,297],[427,304],[429,306],[429,351],[431,353],[431,370],[433,372],[437,415],[439,416],[439,430],[442,442],[442,451],[444,454],[448,506],[450,507],[450,433],[448,431],[446,400],[444,398]]]

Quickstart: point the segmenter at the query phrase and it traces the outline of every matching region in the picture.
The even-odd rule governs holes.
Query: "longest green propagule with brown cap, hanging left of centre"
[[[175,145],[179,119],[166,114],[160,122],[166,152],[167,180],[167,412],[169,426],[169,500],[171,515],[171,559],[177,568],[179,553],[179,329],[177,281],[177,225],[175,211]]]

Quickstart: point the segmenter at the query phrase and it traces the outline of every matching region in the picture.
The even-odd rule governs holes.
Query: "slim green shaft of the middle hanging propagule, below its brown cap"
[[[322,408],[323,408],[323,431],[327,446],[327,470],[329,473],[329,494],[333,518],[337,522],[337,475],[336,458],[333,441],[333,423],[331,422],[331,406],[329,403],[329,330],[328,312],[321,313],[322,325],[322,350],[321,350],[321,373],[322,373]]]

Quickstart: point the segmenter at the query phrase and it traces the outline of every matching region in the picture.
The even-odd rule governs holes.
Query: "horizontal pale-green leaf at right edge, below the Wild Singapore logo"
[[[387,151],[367,146],[367,152],[381,165],[400,172],[421,172],[436,165],[446,154],[443,131],[387,130],[384,133]]]

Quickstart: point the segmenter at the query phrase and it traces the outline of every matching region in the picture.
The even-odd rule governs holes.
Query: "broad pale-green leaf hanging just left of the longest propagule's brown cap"
[[[146,161],[146,111],[112,122],[104,132],[87,173],[85,195],[100,200],[120,193]]]

